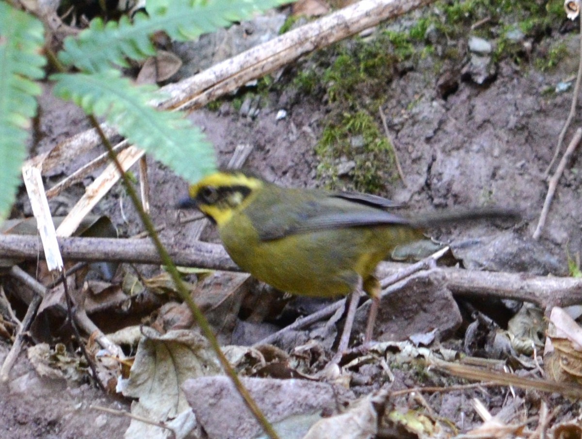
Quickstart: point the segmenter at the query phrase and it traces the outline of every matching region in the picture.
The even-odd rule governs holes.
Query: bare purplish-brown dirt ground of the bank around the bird
[[[569,55],[549,71],[535,69],[531,64],[518,65],[511,59],[499,62],[494,78],[485,85],[476,84],[463,75],[462,63],[451,66],[458,89],[441,98],[437,88],[439,78],[427,65],[414,66],[386,84],[385,105],[396,151],[402,164],[403,182],[386,187],[382,195],[406,203],[410,211],[458,206],[498,205],[517,208],[524,213],[515,228],[497,224],[478,224],[441,228],[431,231],[439,240],[462,246],[472,240],[487,241],[500,235],[516,233],[522,242],[531,243],[544,202],[547,183],[544,171],[552,158],[556,140],[566,120],[572,99],[572,88],[566,93],[546,93],[565,78],[576,74],[579,36],[554,32],[543,45],[563,41]],[[465,60],[466,62],[466,60]],[[424,68],[424,69],[423,69]],[[292,77],[294,69],[286,69],[283,79]],[[288,75],[288,76],[286,76]],[[414,105],[411,105],[414,102]],[[251,144],[254,149],[245,167],[258,171],[266,179],[286,186],[320,186],[317,179],[318,157],[314,148],[321,136],[322,121],[329,105],[312,95],[275,91],[264,99],[264,107],[256,118],[243,116],[231,100],[223,101],[218,111],[202,109],[191,119],[207,134],[216,147],[221,164],[239,144]],[[42,138],[31,155],[41,153],[80,130],[88,128],[84,116],[72,104],[66,104],[49,93],[40,101],[40,132]],[[278,120],[279,110],[286,117]],[[378,117],[378,123],[379,117]],[[580,124],[574,118],[566,141]],[[512,259],[513,265],[504,271],[527,271],[535,274],[563,275],[567,273],[567,257],[582,250],[582,172],[580,154],[575,153],[560,180],[548,222],[535,250],[516,256],[514,249],[499,259]],[[182,224],[176,210],[169,208],[187,191],[187,182],[177,178],[162,165],[148,158],[151,215],[154,224],[164,226],[161,237],[168,243],[187,243],[194,225]],[[48,185],[59,176],[68,175],[78,164],[63,165],[47,176]],[[91,178],[83,183],[86,185]],[[54,213],[67,211],[83,192],[77,185],[67,194],[52,200]],[[120,208],[123,207],[122,209]],[[16,210],[30,215],[30,207],[21,193]],[[120,187],[115,187],[103,200],[97,213],[108,215],[120,236],[133,236],[143,231],[129,199]],[[209,231],[210,239],[215,235]],[[150,267],[156,271],[158,267]],[[307,305],[305,305],[307,306]],[[261,327],[264,330],[264,327]],[[458,332],[457,338],[458,338]],[[453,341],[453,344],[459,341]],[[0,362],[9,345],[0,339]],[[374,376],[376,370],[360,370]],[[413,371],[396,371],[397,388],[418,383]],[[356,392],[365,394],[374,385],[360,377]],[[399,381],[400,380],[400,381]],[[459,419],[471,397],[462,395],[432,395],[430,405],[438,406],[442,417]],[[480,394],[483,396],[483,394]],[[502,391],[487,394],[489,408],[501,408]],[[10,383],[0,387],[0,438],[109,438],[122,437],[129,420],[90,409],[89,405],[127,409],[124,398],[107,396],[90,384],[76,381],[39,378],[21,354]],[[550,398],[552,400],[552,398]],[[570,410],[576,407],[571,406]],[[567,410],[562,410],[565,416]],[[467,416],[467,426],[477,417]]]

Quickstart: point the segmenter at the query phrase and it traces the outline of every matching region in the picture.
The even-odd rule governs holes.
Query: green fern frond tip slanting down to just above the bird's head
[[[159,99],[155,86],[134,86],[117,70],[58,74],[54,93],[71,100],[87,114],[105,116],[130,142],[151,153],[189,181],[215,170],[214,150],[200,129],[179,112],[157,111],[148,101]],[[186,160],[184,160],[186,158]]]

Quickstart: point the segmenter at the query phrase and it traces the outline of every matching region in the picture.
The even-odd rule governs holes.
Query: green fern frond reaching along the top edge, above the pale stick
[[[127,17],[107,25],[94,19],[79,36],[65,38],[59,59],[83,72],[99,72],[113,64],[126,66],[126,58],[139,60],[155,53],[150,36],[157,31],[177,41],[192,40],[288,1],[150,0],[148,15],[136,14],[133,23]]]

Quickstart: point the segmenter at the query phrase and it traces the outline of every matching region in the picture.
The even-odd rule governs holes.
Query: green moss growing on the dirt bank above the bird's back
[[[466,49],[449,41],[480,36],[494,44],[493,62],[510,58],[542,69],[555,66],[566,53],[565,45],[551,47],[541,61],[530,61],[523,42],[514,41],[510,32],[519,29],[524,40],[539,41],[562,21],[562,5],[561,0],[441,0],[425,9],[409,27],[395,31],[398,25],[386,24],[386,29],[365,40],[355,37],[342,41],[304,59],[293,86],[329,103],[317,146],[321,178],[330,186],[367,192],[384,187],[395,172],[392,147],[379,129],[378,108],[391,96],[395,73],[406,74],[409,68],[420,70],[421,65],[430,86],[442,69],[464,63]],[[423,97],[421,92],[415,95],[407,111]],[[364,140],[362,147],[352,144],[358,136]],[[346,162],[354,167],[339,176],[338,165]],[[484,198],[490,195],[484,194]]]

